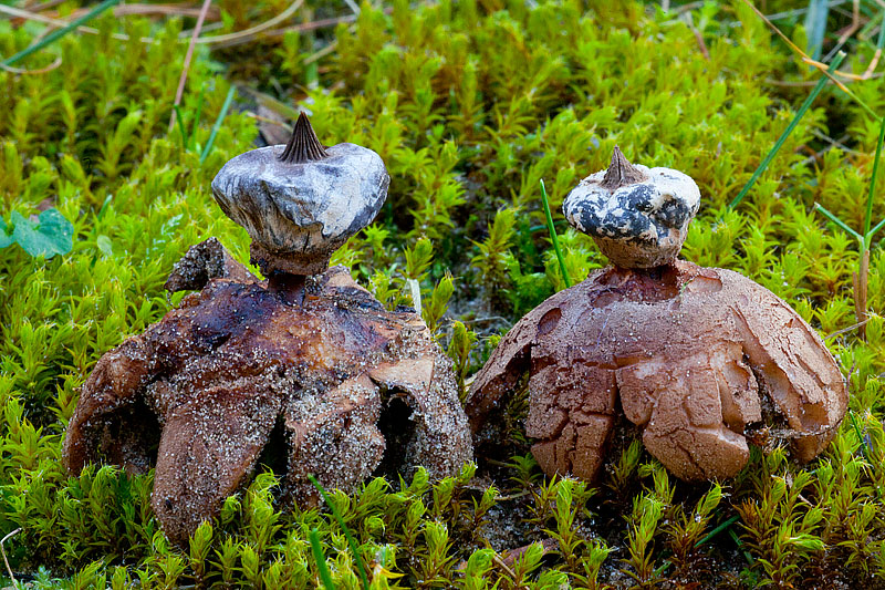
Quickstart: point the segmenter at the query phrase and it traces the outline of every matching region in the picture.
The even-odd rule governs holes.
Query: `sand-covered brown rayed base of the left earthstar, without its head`
[[[308,473],[345,489],[372,475],[397,453],[378,427],[383,390],[415,408],[393,424],[413,434],[402,455],[415,464],[397,468],[441,477],[471,458],[450,365],[416,314],[386,311],[342,267],[306,279],[300,304],[263,282],[214,279],[98,361],[63,460],[75,474],[90,462],[145,470],[156,457],[152,504],[184,542],[248,480],[277,424],[296,499]]]

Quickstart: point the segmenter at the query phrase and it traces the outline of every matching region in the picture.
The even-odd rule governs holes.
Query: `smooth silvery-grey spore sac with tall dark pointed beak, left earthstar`
[[[324,147],[301,113],[288,144],[225,164],[212,195],[249,231],[252,263],[261,272],[317,275],[332,252],[372,222],[389,184],[381,156],[351,143]]]

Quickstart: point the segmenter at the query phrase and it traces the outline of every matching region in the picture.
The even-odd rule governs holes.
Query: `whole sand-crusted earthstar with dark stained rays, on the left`
[[[238,156],[212,183],[270,281],[216,240],[192,247],[167,286],[201,291],[102,356],[69,424],[73,474],[90,462],[156,466],[152,506],[175,541],[259,463],[282,476],[284,497],[312,504],[311,474],[346,490],[419,465],[447,476],[472,457],[449,361],[420,317],[327,269],[330,242],[384,201],[384,165],[314,139],[302,116],[288,146]]]

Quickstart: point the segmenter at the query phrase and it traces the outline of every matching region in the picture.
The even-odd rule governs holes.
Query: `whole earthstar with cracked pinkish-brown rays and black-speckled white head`
[[[467,398],[477,444],[528,375],[525,434],[549,475],[593,479],[625,423],[685,480],[736,475],[748,437],[771,426],[795,458],[812,459],[847,407],[833,356],[771,291],[675,260],[698,208],[695,183],[625,163],[615,148],[612,167],[582,180],[563,207],[614,265],[503,337]]]

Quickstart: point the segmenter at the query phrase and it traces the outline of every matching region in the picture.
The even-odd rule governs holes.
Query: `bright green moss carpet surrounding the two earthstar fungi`
[[[312,4],[305,14],[334,15]],[[605,263],[592,241],[566,230],[559,207],[580,178],[605,166],[615,144],[634,162],[697,180],[704,201],[687,259],[748,275],[823,334],[851,328],[856,247],[813,204],[862,227],[877,123],[824,90],[747,199],[728,210],[808,92],[774,82],[813,83],[818,74],[741,2],[691,12],[709,60],[685,19],[652,6],[590,4],[446,0],[416,8],[400,0],[385,12],[365,3],[355,23],[334,33],[201,48],[181,105],[184,128],[194,130],[186,145],[167,124],[186,50],[177,39],[190,21],[102,17],[92,23],[100,34],[67,35],[18,64],[38,69],[58,56],[59,68],[0,72],[8,89],[0,93],[0,215],[8,222],[13,211],[28,217],[52,206],[73,224],[70,253],[44,259],[17,245],[0,249],[0,534],[22,529],[4,544],[13,570],[45,588],[135,580],[150,588],[313,587],[320,572],[308,532],[316,529],[336,588],[360,587],[335,519],[284,509],[269,473],[181,550],[150,513],[149,475],[95,466],[69,477],[60,466],[64,427],[94,363],[180,301],[162,289],[173,263],[209,236],[248,259],[248,237],[214,204],[209,182],[252,146],[256,124],[243,112],[254,108],[252,95],[238,94],[205,163],[198,148],[235,79],[284,103],[298,99],[325,143],[352,141],[382,154],[388,204],[336,261],[392,308],[416,304],[417,284],[462,386],[501,332],[564,287],[542,178],[569,275],[580,280]],[[231,32],[288,3],[220,6],[222,32]],[[846,24],[830,18],[831,30]],[[804,45],[801,20],[779,24]],[[23,49],[40,30],[0,21],[0,54]],[[305,65],[333,38],[320,66]],[[848,49],[843,68],[862,71],[872,42]],[[885,114],[882,79],[852,89]],[[829,147],[822,135],[851,149],[809,158]],[[885,192],[885,175],[876,190]],[[883,215],[879,198],[874,218]],[[883,271],[875,245],[873,311],[885,306]],[[410,483],[375,479],[350,497],[335,493],[333,503],[373,588],[883,586],[878,314],[866,333],[865,342],[851,330],[827,340],[847,375],[857,427],[846,421],[808,466],[788,462],[783,442],[772,439],[736,479],[687,486],[625,439],[597,487],[545,480],[523,453],[489,468],[500,491],[489,474],[467,467],[439,483],[424,473]],[[519,402],[514,412],[524,411]],[[525,451],[522,433],[514,441]],[[509,565],[496,552],[532,542]]]

